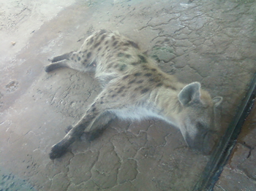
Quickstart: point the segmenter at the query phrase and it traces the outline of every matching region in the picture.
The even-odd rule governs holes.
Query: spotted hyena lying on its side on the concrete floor
[[[140,51],[138,44],[118,33],[97,31],[78,52],[51,60],[45,71],[68,67],[94,71],[102,91],[64,139],[53,145],[50,159],[64,155],[83,133],[94,139],[108,123],[158,117],[181,130],[187,145],[208,154],[214,145],[214,109],[222,97],[211,98],[199,82],[184,85],[159,69],[156,61]]]

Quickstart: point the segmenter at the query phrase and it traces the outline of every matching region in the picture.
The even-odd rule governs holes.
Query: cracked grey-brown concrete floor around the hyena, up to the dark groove
[[[0,9],[1,190],[192,190],[209,156],[157,119],[112,122],[51,161],[51,145],[100,89],[91,75],[43,67],[93,31],[120,31],[164,71],[223,96],[223,131],[256,71],[255,1],[23,0]]]

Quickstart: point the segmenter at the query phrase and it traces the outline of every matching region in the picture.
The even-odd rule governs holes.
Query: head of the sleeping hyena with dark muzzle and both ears
[[[208,155],[217,141],[215,108],[222,102],[222,97],[211,98],[200,89],[199,82],[185,86],[178,94],[182,110],[178,125],[188,146]]]

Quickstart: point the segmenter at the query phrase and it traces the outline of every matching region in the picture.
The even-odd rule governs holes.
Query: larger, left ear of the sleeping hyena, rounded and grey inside
[[[178,93],[178,101],[184,106],[192,101],[200,101],[200,87],[201,85],[199,82],[192,82],[191,84],[186,85],[181,92]]]

